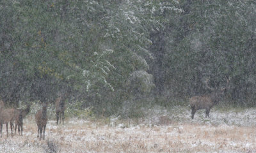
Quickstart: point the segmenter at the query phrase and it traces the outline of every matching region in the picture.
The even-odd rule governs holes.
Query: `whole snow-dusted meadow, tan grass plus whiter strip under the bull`
[[[49,120],[45,140],[36,138],[33,117],[24,135],[0,138],[0,152],[256,152],[256,109],[204,111],[191,120],[188,107],[141,110],[143,119]],[[10,134],[10,130],[9,130]]]

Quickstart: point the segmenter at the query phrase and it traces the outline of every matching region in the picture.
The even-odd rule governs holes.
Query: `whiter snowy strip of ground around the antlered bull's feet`
[[[256,126],[256,108],[230,108],[229,110],[211,109],[210,117],[205,118],[205,110],[198,110],[195,118],[191,120],[190,107],[173,106],[168,110],[156,106],[154,109],[145,111],[145,122],[159,124],[161,117],[166,117],[172,122],[187,122],[209,125],[226,126]]]

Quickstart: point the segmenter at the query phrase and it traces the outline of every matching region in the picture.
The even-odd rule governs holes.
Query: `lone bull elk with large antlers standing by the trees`
[[[191,110],[192,110],[192,112],[191,112],[192,119],[194,119],[194,115],[195,115],[196,111],[200,110],[200,109],[205,109],[205,115],[206,115],[206,117],[207,116],[209,117],[210,110],[211,110],[212,106],[218,104],[218,102],[223,97],[224,91],[228,87],[229,80],[230,80],[230,78],[227,78],[227,84],[225,87],[222,87],[220,89],[218,89],[218,88],[214,89],[214,88],[209,87],[209,85],[207,84],[209,81],[209,78],[206,78],[205,85],[208,89],[211,89],[211,94],[205,94],[202,96],[194,96],[189,99],[189,104],[190,104]]]

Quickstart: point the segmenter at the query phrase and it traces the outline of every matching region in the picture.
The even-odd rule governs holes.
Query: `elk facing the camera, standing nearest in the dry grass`
[[[43,108],[41,110],[38,110],[35,115],[36,124],[37,124],[37,137],[39,137],[39,140],[41,140],[42,133],[44,130],[44,137],[45,138],[45,127],[47,124],[47,105],[48,103],[43,104]]]

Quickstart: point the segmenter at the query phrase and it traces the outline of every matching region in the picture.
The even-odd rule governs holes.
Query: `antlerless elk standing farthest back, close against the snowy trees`
[[[55,101],[55,110],[56,110],[56,118],[57,118],[57,125],[60,119],[61,123],[61,116],[62,116],[62,124],[64,124],[64,112],[65,112],[65,99],[67,97],[67,93],[65,93],[63,96],[61,95],[58,97]]]

